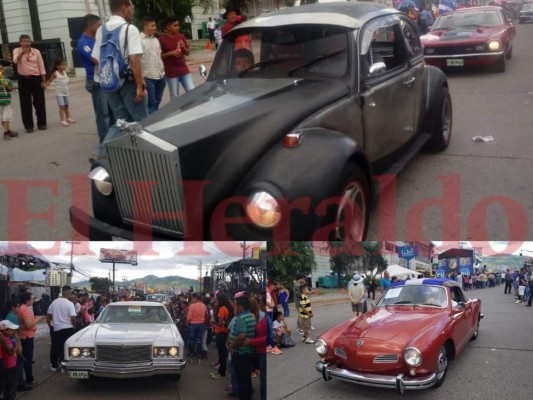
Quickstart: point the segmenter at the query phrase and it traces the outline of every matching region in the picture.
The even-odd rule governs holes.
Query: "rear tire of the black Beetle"
[[[431,139],[426,144],[426,150],[434,152],[446,150],[452,137],[452,99],[448,88],[442,87],[438,96],[431,113]]]

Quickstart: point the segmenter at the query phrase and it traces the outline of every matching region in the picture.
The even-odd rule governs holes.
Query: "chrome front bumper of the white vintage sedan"
[[[146,362],[135,364],[116,364],[106,362],[63,361],[61,365],[67,371],[88,371],[89,375],[106,378],[141,378],[152,375],[177,375],[185,368],[185,360],[172,362]]]

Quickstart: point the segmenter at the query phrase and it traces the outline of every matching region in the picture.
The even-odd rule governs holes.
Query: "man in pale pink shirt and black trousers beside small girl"
[[[29,35],[20,35],[20,47],[13,50],[13,62],[17,65],[20,113],[26,132],[33,132],[32,104],[37,114],[37,127],[46,127],[46,70],[41,52],[31,47]]]

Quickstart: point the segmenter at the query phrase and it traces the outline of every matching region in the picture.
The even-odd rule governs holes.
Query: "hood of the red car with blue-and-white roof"
[[[349,339],[373,339],[394,341],[403,345],[418,333],[442,320],[444,309],[413,306],[389,306],[376,308],[357,319],[341,335]]]

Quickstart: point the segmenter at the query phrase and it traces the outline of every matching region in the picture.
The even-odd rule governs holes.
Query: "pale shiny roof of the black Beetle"
[[[400,14],[400,11],[374,2],[338,1],[306,4],[252,18],[237,25],[233,31],[300,24],[336,25],[358,29],[374,17],[392,14]]]

